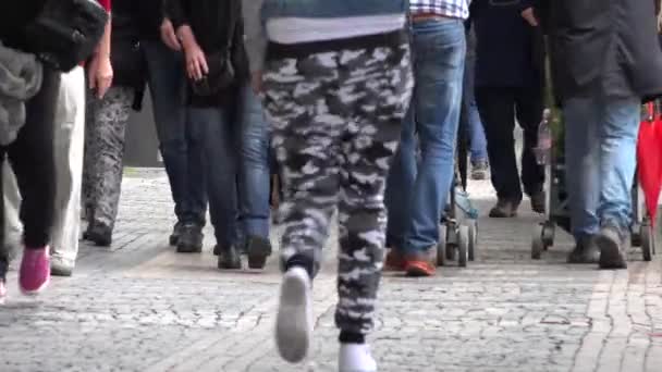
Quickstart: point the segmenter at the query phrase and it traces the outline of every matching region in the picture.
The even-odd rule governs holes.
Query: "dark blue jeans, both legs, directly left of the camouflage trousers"
[[[226,108],[188,109],[194,132],[205,138],[209,214],[222,247],[246,236],[269,237],[267,123],[248,86],[233,96],[237,101]]]

